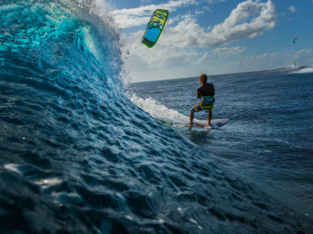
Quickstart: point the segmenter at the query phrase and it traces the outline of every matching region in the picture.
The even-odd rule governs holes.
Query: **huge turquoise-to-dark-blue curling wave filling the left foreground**
[[[0,14],[2,233],[311,231],[130,101],[105,3],[2,1]]]

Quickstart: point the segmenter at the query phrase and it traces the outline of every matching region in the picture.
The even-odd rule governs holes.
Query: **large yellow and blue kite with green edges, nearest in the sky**
[[[155,45],[162,33],[168,15],[168,10],[156,9],[154,11],[141,40],[144,45],[149,48]]]

